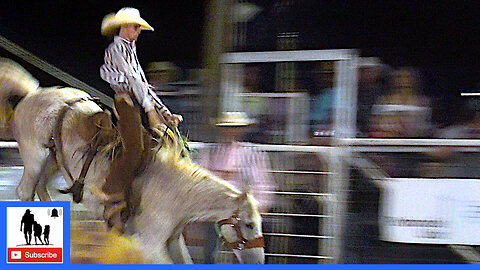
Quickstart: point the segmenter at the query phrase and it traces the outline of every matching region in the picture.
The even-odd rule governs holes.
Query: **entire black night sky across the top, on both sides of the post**
[[[0,34],[103,91],[98,68],[108,41],[100,25],[107,13],[135,7],[155,28],[139,39],[142,64],[199,67],[205,2],[0,1]],[[301,49],[358,48],[393,67],[419,67],[431,95],[478,89],[480,1],[252,2],[263,11],[250,24],[259,35],[250,35],[257,45],[249,49],[275,49],[278,31],[298,31]]]

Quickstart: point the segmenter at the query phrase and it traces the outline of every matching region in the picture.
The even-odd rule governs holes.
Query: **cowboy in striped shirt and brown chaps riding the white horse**
[[[136,40],[141,30],[153,31],[135,8],[122,8],[102,21],[101,33],[113,37],[105,50],[100,76],[115,91],[114,106],[123,152],[115,158],[102,191],[104,218],[109,227],[122,232],[129,216],[125,191],[135,177],[144,150],[141,111],[144,110],[154,134],[162,136],[167,125],[177,127],[183,118],[172,114],[152,90],[137,58]]]

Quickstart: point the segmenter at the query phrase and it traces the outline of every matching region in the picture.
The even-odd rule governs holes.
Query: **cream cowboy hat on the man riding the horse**
[[[122,8],[117,13],[110,13],[103,18],[102,35],[112,35],[113,31],[125,24],[139,24],[140,29],[153,31],[153,27],[147,23],[136,8]]]

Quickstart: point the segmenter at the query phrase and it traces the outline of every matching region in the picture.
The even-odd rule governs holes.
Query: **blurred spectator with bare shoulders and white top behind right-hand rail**
[[[419,93],[418,72],[394,71],[390,92],[372,108],[370,136],[379,138],[426,138],[432,136],[430,100]],[[391,177],[414,177],[424,156],[418,153],[382,153],[372,157]]]

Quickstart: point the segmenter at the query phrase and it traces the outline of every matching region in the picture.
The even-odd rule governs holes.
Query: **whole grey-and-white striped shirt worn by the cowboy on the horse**
[[[110,84],[115,93],[133,93],[146,112],[155,105],[160,113],[168,111],[148,83],[137,58],[135,41],[115,36],[105,50],[104,64],[100,67],[100,77]]]

